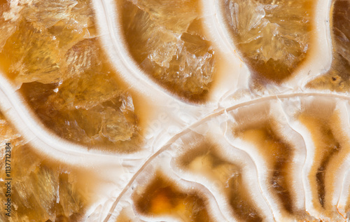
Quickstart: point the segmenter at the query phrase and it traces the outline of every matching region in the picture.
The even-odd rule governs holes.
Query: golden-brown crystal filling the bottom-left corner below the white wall
[[[33,151],[25,139],[0,113],[0,139],[10,143],[10,159],[6,159],[5,148],[1,148],[0,167],[10,163],[10,217],[1,211],[0,221],[76,221],[92,200],[92,186],[81,186],[83,174],[78,174],[65,165],[57,165]],[[8,161],[10,160],[10,161]],[[8,165],[6,165],[8,166]],[[25,169],[25,170],[23,170]],[[4,172],[4,171],[3,171]],[[92,174],[90,174],[91,176]],[[0,176],[0,202],[5,204],[8,176]]]

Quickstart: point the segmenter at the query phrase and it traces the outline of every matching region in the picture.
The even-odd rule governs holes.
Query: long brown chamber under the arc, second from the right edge
[[[232,138],[240,139],[246,146],[251,146],[249,149],[241,147],[244,151],[253,156],[258,154],[265,162],[265,183],[281,206],[283,217],[293,220],[309,219],[309,216],[296,206],[295,192],[298,191],[294,190],[293,184],[290,183],[295,180],[292,173],[295,169],[293,158],[298,150],[283,134],[287,129],[276,118],[279,111],[272,111],[274,106],[270,104],[242,107],[234,115],[235,123],[231,124],[230,133]]]

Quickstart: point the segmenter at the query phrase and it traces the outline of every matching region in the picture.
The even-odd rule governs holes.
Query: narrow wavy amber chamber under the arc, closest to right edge
[[[316,209],[332,217],[337,214],[331,203],[334,191],[332,181],[335,180],[334,172],[350,152],[349,135],[342,130],[342,120],[334,103],[305,103],[298,118],[311,132],[315,146],[309,172],[313,204]]]

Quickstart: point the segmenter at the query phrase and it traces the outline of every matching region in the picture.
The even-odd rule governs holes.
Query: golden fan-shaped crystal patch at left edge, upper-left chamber
[[[7,40],[0,57],[10,62],[8,74],[18,83],[59,81],[61,62],[59,42],[44,27],[20,22]]]

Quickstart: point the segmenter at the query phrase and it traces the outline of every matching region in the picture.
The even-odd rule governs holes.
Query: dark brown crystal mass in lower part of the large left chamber
[[[66,139],[83,144],[130,140],[138,130],[132,98],[121,94],[109,76],[93,72],[91,75],[69,78],[58,86],[57,92],[52,85],[43,92],[48,93],[44,103],[35,102],[35,92],[43,88],[38,83],[24,85],[23,92],[33,101],[44,123]]]

